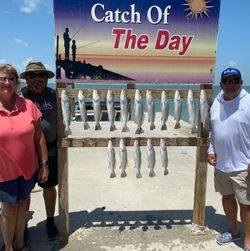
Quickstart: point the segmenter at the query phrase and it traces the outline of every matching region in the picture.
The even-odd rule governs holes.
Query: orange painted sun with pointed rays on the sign
[[[213,6],[208,6],[208,3],[210,1],[206,0],[185,0],[185,1],[187,3],[183,5],[188,6],[188,8],[185,10],[189,11],[187,17],[191,15],[192,17],[195,17],[196,20],[199,16],[202,17],[203,14],[208,16],[209,9],[213,8]]]

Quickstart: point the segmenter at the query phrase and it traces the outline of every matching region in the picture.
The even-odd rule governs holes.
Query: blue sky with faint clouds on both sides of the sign
[[[250,85],[249,10],[249,0],[221,0],[216,84],[221,71],[232,66]],[[1,0],[0,20],[0,63],[22,72],[28,61],[39,60],[54,71],[53,0]]]

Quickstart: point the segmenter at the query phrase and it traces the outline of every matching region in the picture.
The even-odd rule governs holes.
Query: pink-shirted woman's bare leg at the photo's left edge
[[[13,240],[16,227],[17,205],[2,202],[0,226],[6,251],[13,250]]]

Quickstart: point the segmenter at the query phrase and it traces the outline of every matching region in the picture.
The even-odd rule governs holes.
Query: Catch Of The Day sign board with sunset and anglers
[[[220,0],[54,0],[56,77],[212,83]]]

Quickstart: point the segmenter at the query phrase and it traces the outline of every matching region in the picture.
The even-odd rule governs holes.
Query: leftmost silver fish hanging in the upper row
[[[71,123],[71,103],[66,90],[62,90],[61,93],[61,106],[62,106],[63,124],[65,126],[64,135],[67,137],[68,135],[71,135],[72,132],[69,127]]]

